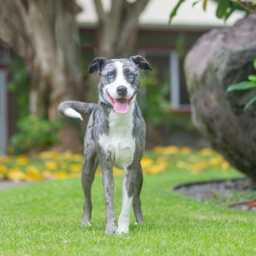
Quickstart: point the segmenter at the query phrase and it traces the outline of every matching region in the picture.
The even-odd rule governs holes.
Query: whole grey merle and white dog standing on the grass
[[[106,203],[106,234],[129,232],[132,205],[137,222],[143,222],[140,161],[145,149],[146,126],[136,101],[140,89],[139,71],[142,69],[152,71],[146,59],[139,55],[129,59],[94,58],[89,74],[97,72],[100,75],[98,104],[64,101],[58,107],[62,114],[81,120],[79,112],[91,113],[84,139],[82,225],[91,225],[91,187],[99,163]],[[117,228],[113,166],[124,170],[122,210]]]

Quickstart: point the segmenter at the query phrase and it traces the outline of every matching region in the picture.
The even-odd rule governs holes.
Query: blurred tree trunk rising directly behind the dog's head
[[[138,35],[139,16],[148,2],[112,0],[110,12],[107,12],[101,0],[94,0],[99,16],[99,56],[107,59],[129,57]]]

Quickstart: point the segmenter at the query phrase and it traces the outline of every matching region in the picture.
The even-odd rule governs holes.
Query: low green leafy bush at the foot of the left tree
[[[58,141],[57,131],[62,121],[48,121],[42,117],[29,115],[18,122],[19,132],[11,137],[10,153],[20,154],[28,151],[42,150]]]

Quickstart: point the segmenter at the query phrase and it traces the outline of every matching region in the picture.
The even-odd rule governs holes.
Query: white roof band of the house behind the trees
[[[83,11],[77,15],[79,23],[96,23],[98,21],[93,0],[76,0]],[[129,2],[134,2],[129,0]],[[177,4],[178,0],[150,0],[145,10],[141,13],[140,25],[162,25],[166,26],[169,21],[171,10]],[[172,26],[186,27],[218,27],[232,26],[238,19],[243,17],[243,12],[233,13],[225,23],[216,17],[216,3],[207,1],[207,9],[202,9],[203,1],[192,6],[195,0],[187,0],[181,4],[177,15],[173,18]],[[110,0],[102,0],[105,10],[109,9]]]

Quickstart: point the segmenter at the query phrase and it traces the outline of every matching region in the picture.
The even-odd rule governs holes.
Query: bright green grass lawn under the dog
[[[255,212],[197,202],[172,191],[180,182],[239,176],[234,169],[195,173],[175,165],[145,175],[141,194],[145,223],[134,225],[132,213],[130,233],[122,236],[104,234],[101,177],[93,183],[89,228],[80,226],[83,193],[79,178],[2,190],[0,255],[256,255]],[[122,177],[115,177],[117,218],[121,191]]]

